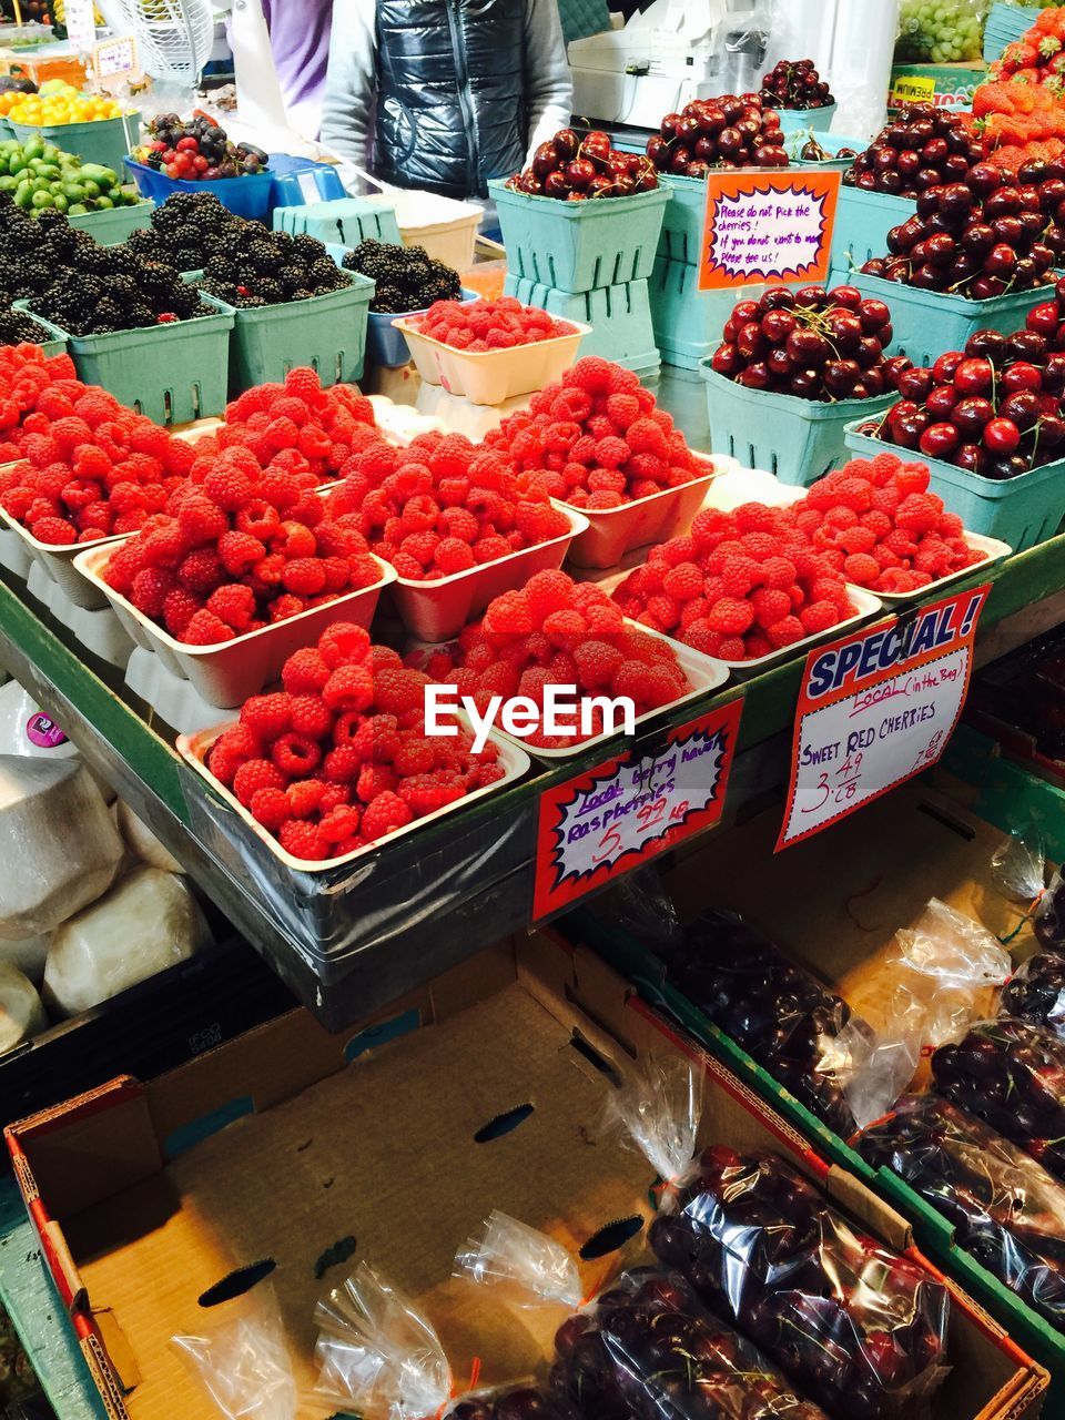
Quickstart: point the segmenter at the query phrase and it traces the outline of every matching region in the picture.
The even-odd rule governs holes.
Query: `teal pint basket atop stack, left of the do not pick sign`
[[[530,197],[504,182],[488,190],[511,275],[581,294],[646,281],[655,267],[669,202],[663,187],[594,202]]]

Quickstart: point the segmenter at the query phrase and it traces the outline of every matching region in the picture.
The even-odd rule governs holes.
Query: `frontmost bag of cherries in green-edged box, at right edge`
[[[954,1241],[1055,1326],[1065,1323],[1065,1187],[973,1115],[909,1096],[858,1140],[954,1225]]]

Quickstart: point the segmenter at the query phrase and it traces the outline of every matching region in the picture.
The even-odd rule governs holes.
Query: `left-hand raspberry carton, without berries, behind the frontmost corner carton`
[[[220,710],[241,706],[248,696],[258,694],[264,686],[277,680],[291,653],[301,646],[314,645],[332,622],[346,621],[368,628],[378,609],[382,589],[395,578],[388,562],[375,558],[381,568],[381,581],[372,586],[346,592],[324,606],[312,606],[298,616],[247,632],[233,640],[214,646],[186,646],[162,626],[156,626],[104,581],[104,571],[116,550],[116,542],[122,541],[119,538],[106,547],[92,547],[80,552],[74,558],[74,567],[89,586],[111,604],[136,646],[155,652],[166,670],[187,680],[207,704]]]

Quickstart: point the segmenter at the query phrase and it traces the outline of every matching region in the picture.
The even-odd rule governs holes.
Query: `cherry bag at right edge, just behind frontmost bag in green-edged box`
[[[1003,1015],[937,1049],[932,1074],[937,1095],[1065,1179],[1065,1041]]]

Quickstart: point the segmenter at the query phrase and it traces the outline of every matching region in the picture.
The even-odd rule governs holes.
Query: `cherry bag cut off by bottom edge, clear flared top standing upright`
[[[565,1399],[541,1386],[460,1393],[429,1319],[368,1264],[315,1308],[320,1366],[315,1400],[364,1420],[578,1420]]]

